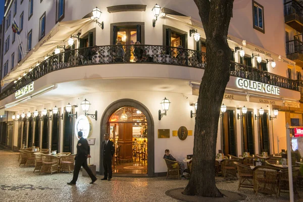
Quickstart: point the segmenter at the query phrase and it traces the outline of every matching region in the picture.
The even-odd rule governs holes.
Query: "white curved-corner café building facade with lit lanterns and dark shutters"
[[[83,130],[94,141],[90,163],[102,172],[100,145],[108,132],[119,148],[116,160],[143,162],[140,174],[148,176],[167,171],[165,149],[179,161],[192,154],[194,104],[207,54],[193,1],[14,0],[6,5],[3,146],[74,153],[75,134]],[[225,155],[286,149],[282,109],[299,105],[300,82],[293,76],[301,69],[286,57],[283,11],[282,0],[234,2],[228,35],[234,61],[217,140]],[[165,97],[167,111],[160,104]],[[87,100],[90,108],[82,110]]]

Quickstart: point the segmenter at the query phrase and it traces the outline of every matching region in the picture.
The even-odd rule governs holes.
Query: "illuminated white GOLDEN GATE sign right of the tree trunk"
[[[266,83],[260,83],[257,81],[251,81],[248,79],[237,78],[236,85],[238,88],[243,88],[243,89],[247,89],[247,90],[265,92],[265,93],[274,94],[274,95],[280,94],[280,87],[269,85]]]

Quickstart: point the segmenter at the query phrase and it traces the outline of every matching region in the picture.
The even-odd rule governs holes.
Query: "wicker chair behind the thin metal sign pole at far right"
[[[280,179],[279,179],[279,196],[280,193],[289,193],[289,178],[288,178],[288,169],[281,170]],[[299,169],[292,169],[292,183],[293,183],[293,192],[297,193],[296,183],[299,175]]]

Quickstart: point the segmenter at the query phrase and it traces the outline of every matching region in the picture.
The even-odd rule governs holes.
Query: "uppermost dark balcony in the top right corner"
[[[286,2],[284,4],[284,18],[287,25],[301,32],[303,26],[303,6],[295,0]]]

